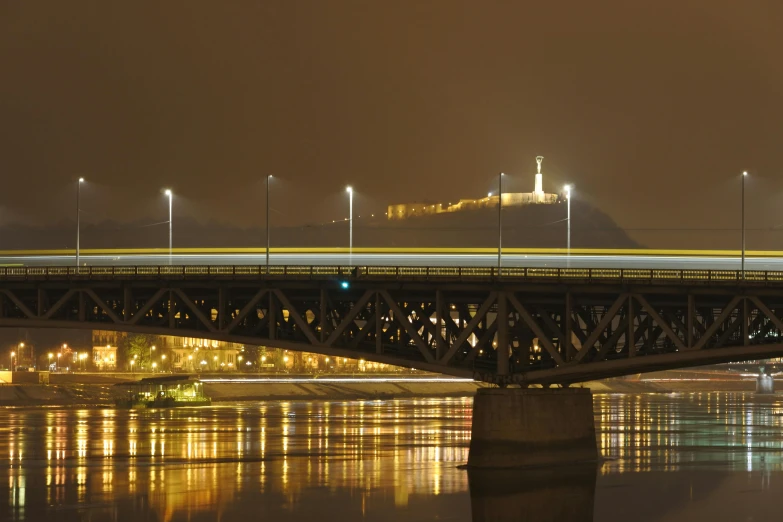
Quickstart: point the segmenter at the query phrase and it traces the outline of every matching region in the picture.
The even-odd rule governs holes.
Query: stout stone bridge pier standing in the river
[[[549,466],[597,458],[590,390],[478,390],[473,400],[469,467]]]

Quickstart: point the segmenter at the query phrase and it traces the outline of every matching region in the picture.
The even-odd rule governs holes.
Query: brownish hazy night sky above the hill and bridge
[[[180,215],[258,225],[274,173],[275,219],[318,222],[349,183],[359,212],[500,170],[528,191],[541,154],[545,189],[680,246],[738,228],[747,169],[770,229],[781,24],[779,0],[0,0],[0,221],[72,217],[84,175],[91,221],[165,219],[170,185]]]

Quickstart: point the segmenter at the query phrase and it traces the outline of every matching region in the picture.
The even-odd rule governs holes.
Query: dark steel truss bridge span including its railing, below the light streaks
[[[0,267],[0,326],[267,345],[500,385],[783,355],[783,272]]]

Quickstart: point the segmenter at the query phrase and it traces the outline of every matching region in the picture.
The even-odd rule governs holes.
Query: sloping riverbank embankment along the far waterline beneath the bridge
[[[0,407],[107,407],[113,406],[114,384],[139,376],[61,374],[50,384],[2,384]],[[393,400],[472,397],[491,386],[467,380],[433,376],[270,376],[231,375],[204,378],[213,404],[292,400]],[[645,376],[604,379],[575,385],[593,394],[754,392],[755,378],[714,370],[666,371]],[[778,382],[783,391],[783,381]]]

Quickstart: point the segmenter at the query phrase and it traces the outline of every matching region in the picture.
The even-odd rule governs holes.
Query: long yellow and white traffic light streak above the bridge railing
[[[265,265],[264,249],[112,249],[82,250],[81,261],[88,266],[119,265]],[[0,265],[6,266],[68,266],[74,254],[69,250],[0,251]],[[354,266],[496,266],[497,250],[483,249],[412,249],[355,248],[348,249],[272,249],[273,265],[354,265]],[[783,253],[751,251],[746,257],[747,270],[783,270]],[[730,250],[573,250],[564,249],[504,249],[505,267],[554,268],[652,268],[737,270],[739,251]]]

